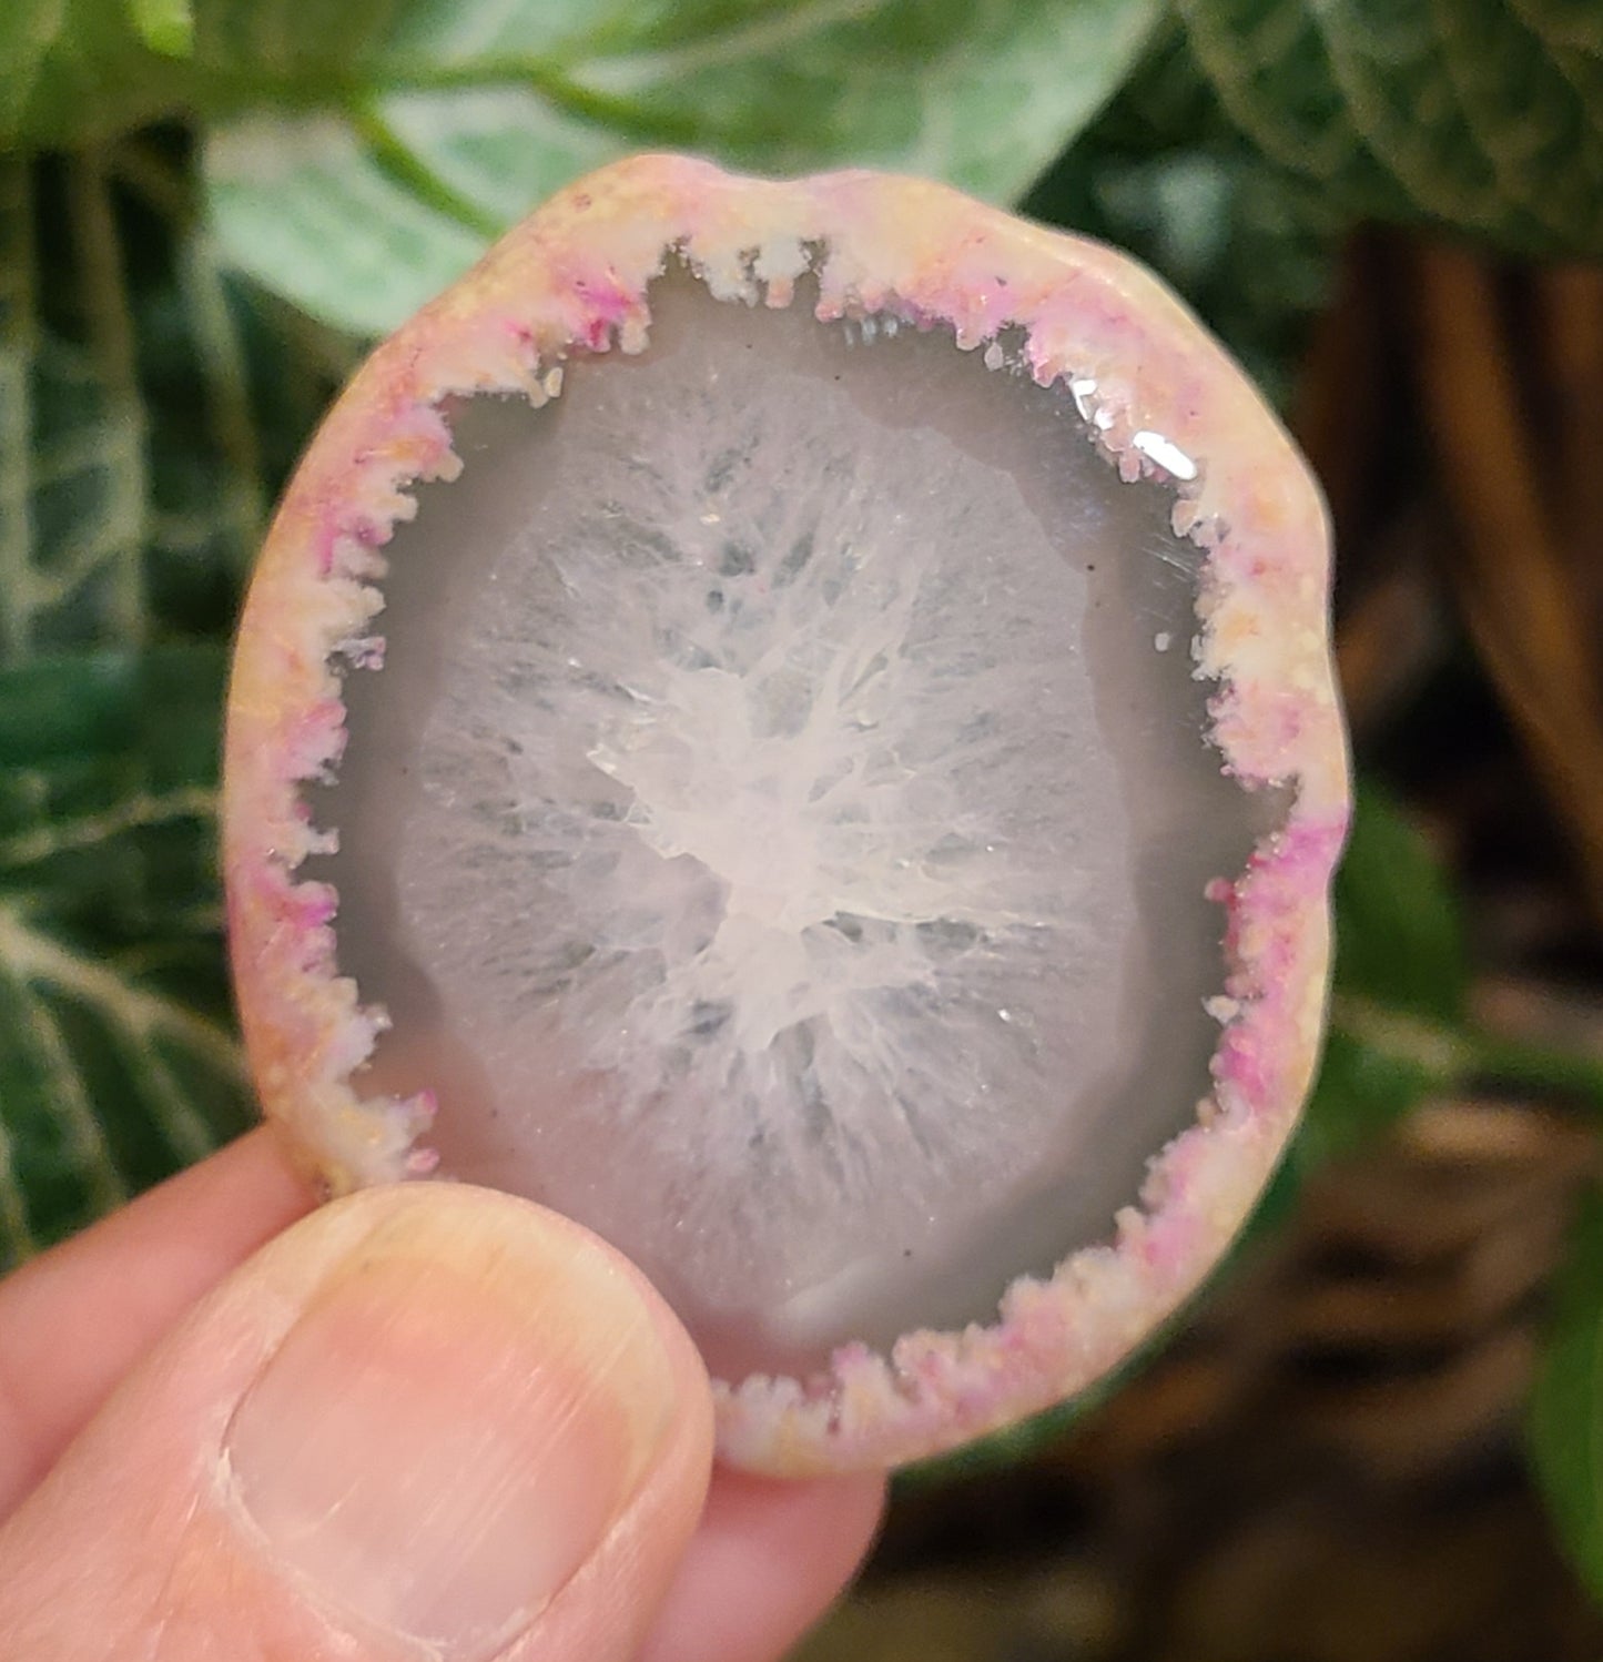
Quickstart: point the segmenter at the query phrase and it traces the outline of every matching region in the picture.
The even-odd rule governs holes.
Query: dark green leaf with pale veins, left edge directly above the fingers
[[[221,645],[0,671],[0,1270],[249,1120],[214,859],[224,673]]]

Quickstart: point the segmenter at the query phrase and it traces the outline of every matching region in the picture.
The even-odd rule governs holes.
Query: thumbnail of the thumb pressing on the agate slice
[[[228,1456],[266,1551],[326,1610],[482,1662],[601,1544],[674,1386],[588,1238],[472,1190],[429,1200],[322,1283]]]

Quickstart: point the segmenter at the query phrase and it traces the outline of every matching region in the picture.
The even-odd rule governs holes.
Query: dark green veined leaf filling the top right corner
[[[1354,216],[1603,253],[1603,7],[1176,0],[1228,120]]]

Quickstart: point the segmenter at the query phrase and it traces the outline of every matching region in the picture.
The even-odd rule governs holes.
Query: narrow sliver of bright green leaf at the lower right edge
[[[1603,1599],[1603,1197],[1581,1208],[1532,1393],[1528,1446],[1558,1539]]]

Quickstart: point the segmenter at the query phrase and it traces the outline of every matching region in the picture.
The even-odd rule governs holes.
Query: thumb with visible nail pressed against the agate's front
[[[616,1253],[370,1190],[208,1296],[0,1529],[0,1655],[613,1662],[709,1463],[701,1363]]]

